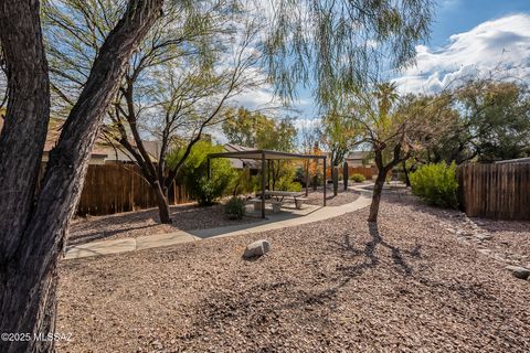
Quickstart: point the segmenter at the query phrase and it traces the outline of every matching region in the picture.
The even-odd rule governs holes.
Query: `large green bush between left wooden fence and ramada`
[[[213,146],[212,142],[205,140],[199,141],[192,147],[179,171],[178,182],[184,184],[200,205],[211,205],[215,200],[229,193],[231,182],[237,176],[227,159],[212,159],[210,161],[211,179],[208,180],[206,157],[210,153],[222,151],[222,146]],[[176,150],[169,156],[170,168],[181,159],[181,153],[183,153],[182,149]]]

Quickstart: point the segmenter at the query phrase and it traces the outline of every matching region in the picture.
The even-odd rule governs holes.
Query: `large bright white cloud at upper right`
[[[454,34],[441,50],[416,46],[416,65],[396,78],[400,90],[432,93],[458,78],[496,73],[530,77],[530,14],[512,14],[483,22]]]

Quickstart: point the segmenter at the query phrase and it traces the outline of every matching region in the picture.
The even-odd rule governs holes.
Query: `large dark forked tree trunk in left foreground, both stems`
[[[8,105],[0,135],[0,329],[53,332],[57,260],[75,212],[89,151],[139,41],[160,17],[161,0],[131,0],[107,35],[50,153],[35,194],[50,115],[49,68],[39,1],[0,6]],[[0,341],[1,352],[51,351],[50,341]]]

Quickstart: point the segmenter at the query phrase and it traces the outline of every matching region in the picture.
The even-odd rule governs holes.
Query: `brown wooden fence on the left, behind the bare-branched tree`
[[[182,186],[169,190],[169,203],[191,202]],[[155,192],[132,164],[88,165],[78,215],[104,215],[157,206]]]

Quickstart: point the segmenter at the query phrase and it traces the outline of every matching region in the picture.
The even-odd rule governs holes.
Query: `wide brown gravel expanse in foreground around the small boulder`
[[[530,284],[441,228],[451,212],[367,215],[63,261],[59,352],[530,351]]]

